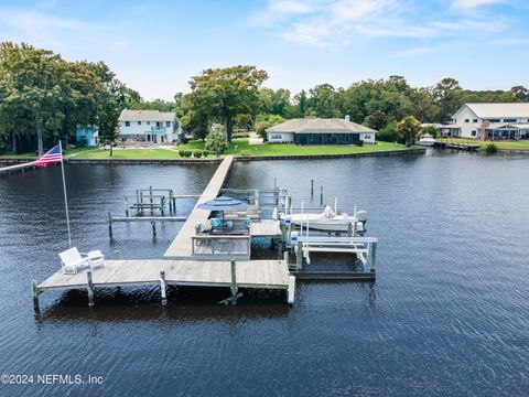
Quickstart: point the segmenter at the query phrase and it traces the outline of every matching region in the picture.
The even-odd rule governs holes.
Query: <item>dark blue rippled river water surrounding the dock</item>
[[[160,257],[179,225],[115,226],[136,187],[201,193],[212,165],[67,167],[73,238],[108,257]],[[102,385],[0,385],[0,396],[527,396],[529,159],[420,157],[236,163],[230,187],[310,180],[379,237],[375,286],[299,283],[281,294],[108,289],[50,291],[35,315],[30,280],[60,267],[66,228],[58,168],[0,179],[0,374],[102,376]],[[319,204],[319,194],[314,202]],[[188,211],[192,202],[183,205]],[[327,258],[328,260],[328,258]]]

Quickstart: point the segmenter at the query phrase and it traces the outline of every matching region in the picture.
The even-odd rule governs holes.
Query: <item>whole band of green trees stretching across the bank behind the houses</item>
[[[209,68],[190,81],[191,92],[173,100],[143,100],[102,62],[68,62],[29,44],[0,43],[0,149],[37,150],[57,139],[74,142],[77,126],[99,130],[101,141],[117,138],[122,109],[175,111],[182,127],[205,139],[220,124],[225,139],[234,131],[257,130],[290,118],[343,118],[379,131],[377,138],[406,141],[402,124],[450,121],[464,103],[526,101],[529,90],[467,90],[454,78],[431,87],[412,87],[402,76],[367,79],[349,87],[320,84],[299,93],[262,86],[268,73],[256,66]]]

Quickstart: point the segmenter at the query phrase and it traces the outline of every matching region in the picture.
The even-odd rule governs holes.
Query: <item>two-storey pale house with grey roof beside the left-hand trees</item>
[[[119,115],[119,138],[122,142],[176,142],[181,132],[173,111],[125,109]]]

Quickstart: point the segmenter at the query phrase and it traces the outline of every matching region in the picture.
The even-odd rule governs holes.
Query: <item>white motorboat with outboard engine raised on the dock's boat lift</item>
[[[282,214],[281,218],[298,227],[303,226],[323,232],[347,232],[349,224],[354,225],[356,223],[356,230],[363,233],[364,225],[367,222],[367,212],[359,211],[356,216],[349,216],[346,213],[336,215],[330,206],[326,206],[321,214]]]

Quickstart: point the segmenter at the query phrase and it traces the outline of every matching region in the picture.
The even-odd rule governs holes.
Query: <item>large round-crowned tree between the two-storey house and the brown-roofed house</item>
[[[268,78],[256,66],[209,68],[191,78],[190,100],[192,109],[208,114],[224,125],[226,140],[237,115],[257,115],[260,110],[259,87]]]

